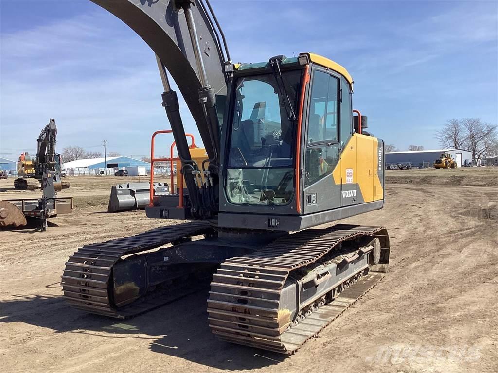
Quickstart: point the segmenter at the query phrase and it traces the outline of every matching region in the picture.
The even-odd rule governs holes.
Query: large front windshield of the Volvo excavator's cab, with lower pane
[[[227,160],[230,202],[284,205],[291,200],[296,120],[289,112],[297,112],[300,80],[300,70],[282,72],[282,79],[273,73],[237,79]]]

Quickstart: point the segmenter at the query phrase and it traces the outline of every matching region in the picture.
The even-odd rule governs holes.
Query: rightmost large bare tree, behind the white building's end
[[[472,160],[477,162],[493,145],[497,137],[497,126],[485,123],[481,118],[463,118],[462,126],[467,132],[465,146],[472,152]]]

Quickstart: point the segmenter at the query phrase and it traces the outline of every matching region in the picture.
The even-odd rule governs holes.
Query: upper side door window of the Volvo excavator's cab
[[[338,141],[338,93],[339,79],[323,71],[313,73],[308,144]]]

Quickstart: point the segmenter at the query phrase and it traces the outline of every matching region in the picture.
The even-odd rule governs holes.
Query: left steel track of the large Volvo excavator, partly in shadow
[[[62,291],[66,301],[75,308],[105,316],[126,318],[197,291],[202,282],[184,276],[167,287],[156,286],[133,302],[119,306],[113,301],[113,266],[123,256],[139,254],[182,238],[212,232],[207,222],[169,225],[134,236],[85,245],[66,263],[62,275]]]

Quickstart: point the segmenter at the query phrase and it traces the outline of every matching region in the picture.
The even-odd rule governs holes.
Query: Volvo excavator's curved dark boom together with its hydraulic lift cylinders
[[[232,62],[225,36],[209,1],[93,0],[133,29],[154,51],[164,87],[166,109],[195,218],[218,211],[221,124]],[[227,68],[227,69],[226,69]],[[225,72],[227,71],[227,73]],[[208,160],[197,164],[190,155],[178,97],[178,86],[201,135]],[[209,162],[209,166],[206,166]],[[202,183],[201,172],[208,181]]]

